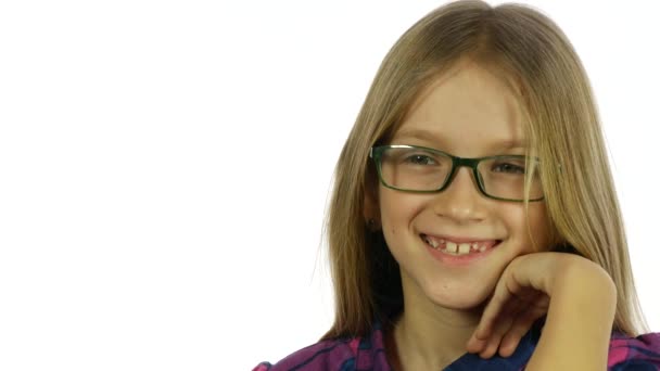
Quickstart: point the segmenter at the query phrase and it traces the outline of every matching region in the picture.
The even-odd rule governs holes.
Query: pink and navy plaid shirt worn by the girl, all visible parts
[[[516,353],[481,359],[466,353],[445,370],[523,370],[541,337],[541,327],[534,327],[520,341]],[[612,332],[608,370],[660,370],[660,333],[627,337]],[[369,336],[323,341],[303,348],[281,361],[262,362],[253,371],[390,371],[385,357],[383,331],[377,323]]]

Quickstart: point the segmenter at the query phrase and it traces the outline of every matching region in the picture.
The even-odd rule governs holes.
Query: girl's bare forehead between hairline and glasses
[[[420,92],[394,133],[394,139],[406,138],[464,155],[482,155],[495,146],[526,148],[516,92],[475,63],[457,64]]]

